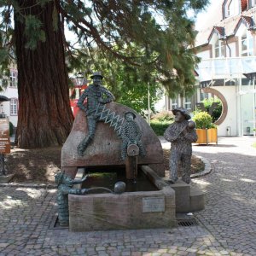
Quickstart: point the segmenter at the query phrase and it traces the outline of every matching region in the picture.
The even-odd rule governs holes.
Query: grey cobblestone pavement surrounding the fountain
[[[0,187],[3,255],[256,255],[256,148],[252,137],[195,145],[212,172],[192,180],[206,192],[199,225],[154,230],[53,229],[55,189]],[[169,146],[168,143],[163,143]]]

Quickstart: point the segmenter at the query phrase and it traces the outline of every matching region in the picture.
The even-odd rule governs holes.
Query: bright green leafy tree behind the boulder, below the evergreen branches
[[[84,76],[90,77],[93,71],[101,70],[104,75],[103,84],[112,91],[115,96],[115,102],[124,104],[133,108],[144,115],[145,110],[148,110],[148,84],[150,93],[150,109],[154,112],[154,103],[162,96],[160,83],[154,81],[156,77],[154,73],[148,77],[148,83],[144,81],[148,73],[144,72],[140,67],[127,66],[119,59],[112,60],[104,58],[104,55],[98,49],[93,50],[94,61],[90,61],[90,55],[86,49],[83,49],[83,55],[80,55],[79,61]],[[68,66],[69,67],[69,66]],[[141,70],[141,74],[138,74]]]

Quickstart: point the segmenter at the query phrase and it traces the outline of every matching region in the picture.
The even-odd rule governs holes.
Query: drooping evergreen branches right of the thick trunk
[[[157,86],[163,85],[169,96],[178,93],[189,96],[195,91],[194,69],[199,59],[191,47],[195,31],[187,10],[197,12],[207,2],[118,1],[102,4],[91,1],[91,9],[80,2],[63,2],[61,8],[68,14],[67,25],[82,44],[77,50],[72,45],[67,51],[69,70],[83,70],[85,64],[82,64],[81,56],[85,55],[87,59],[84,63],[89,64],[85,69],[95,70],[92,66],[97,66],[96,51],[97,55],[107,60],[109,73],[119,76],[117,82],[120,77],[125,78],[122,91],[131,86],[147,87],[148,82],[154,86],[157,81]],[[84,17],[90,20],[90,24]],[[78,26],[81,24],[84,29]],[[84,50],[80,49],[87,52],[84,54]],[[120,67],[121,62],[123,67]],[[122,74],[124,72],[127,78]],[[129,79],[131,83],[127,86]],[[133,91],[130,93],[134,94]],[[125,101],[120,99],[120,102]]]

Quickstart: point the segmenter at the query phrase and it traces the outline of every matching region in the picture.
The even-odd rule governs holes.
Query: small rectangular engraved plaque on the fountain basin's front
[[[143,197],[143,212],[165,212],[165,197]]]

